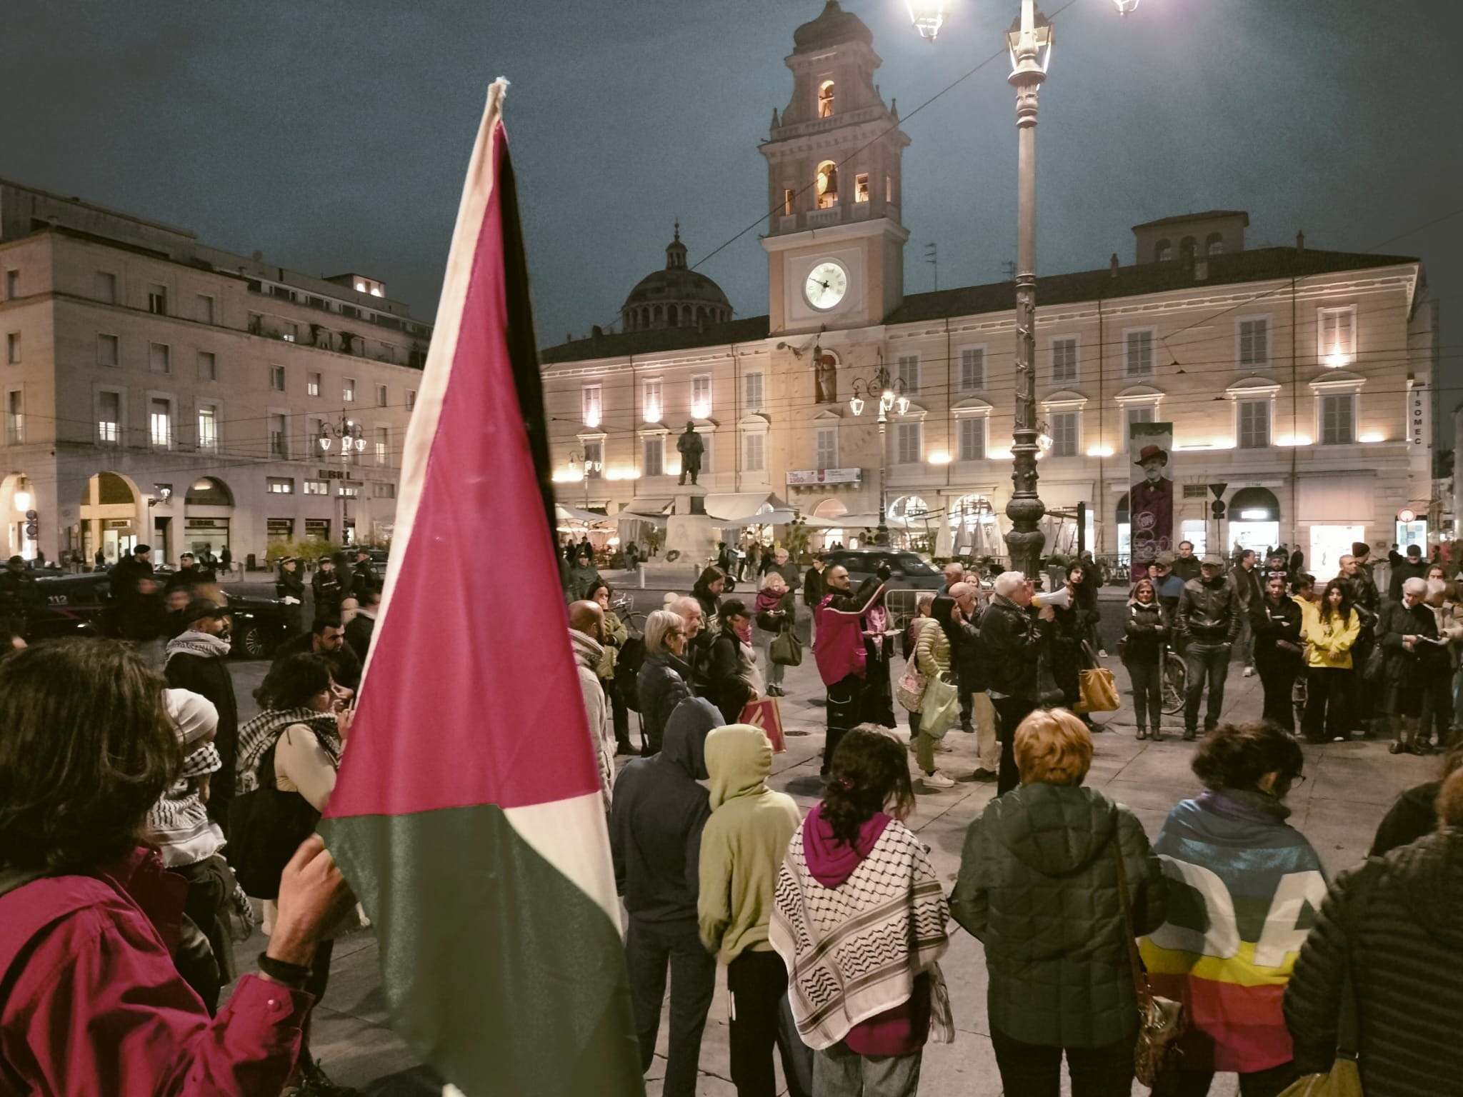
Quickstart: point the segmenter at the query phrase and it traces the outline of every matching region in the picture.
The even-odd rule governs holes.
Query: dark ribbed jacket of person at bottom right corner
[[[1463,1078],[1463,828],[1342,873],[1285,992],[1302,1074],[1328,1071],[1347,968],[1366,1097],[1440,1097]]]

